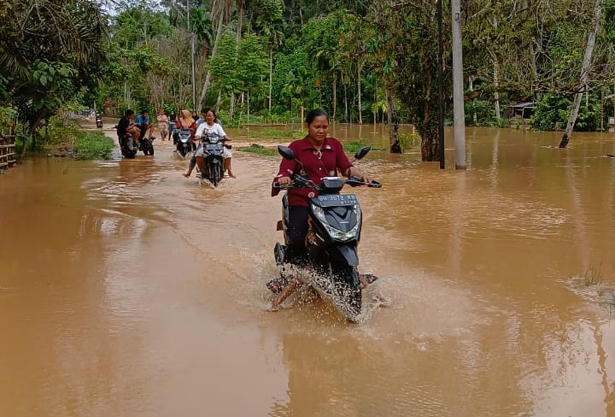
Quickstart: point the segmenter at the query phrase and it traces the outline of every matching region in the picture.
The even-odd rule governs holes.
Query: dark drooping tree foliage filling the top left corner
[[[29,135],[67,101],[95,89],[106,61],[106,22],[87,0],[8,0],[0,15],[0,97]]]

